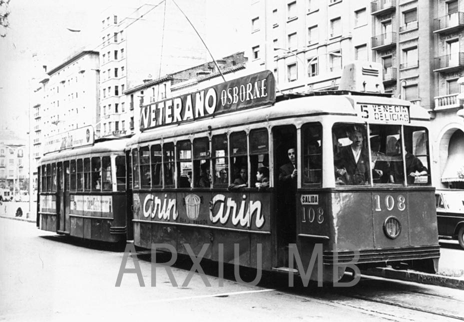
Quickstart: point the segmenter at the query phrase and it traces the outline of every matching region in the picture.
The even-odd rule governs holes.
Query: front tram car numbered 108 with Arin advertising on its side
[[[382,91],[381,66],[376,63],[346,66],[336,91],[275,101],[273,81],[272,73],[265,71],[211,87],[214,91],[144,106],[142,132],[129,139],[126,148],[135,245],[167,243],[187,254],[188,243],[198,254],[206,243],[203,258],[217,261],[223,244],[225,262],[233,263],[238,255],[240,265],[256,268],[260,243],[262,268],[288,271],[289,243],[296,243],[305,270],[316,245],[322,244],[318,259],[323,261],[324,281],[342,277],[345,265],[333,276],[335,256],[348,262],[353,250],[359,251],[360,268],[391,265],[436,272],[439,245],[428,113],[409,101],[368,93]],[[241,109],[240,102],[227,106],[228,98],[212,97],[231,93],[232,101],[240,88],[251,88],[251,100],[259,101],[260,91],[269,101]],[[185,121],[185,111],[198,109],[191,103],[195,95],[205,93],[202,101],[209,105],[204,107],[209,115],[198,112],[196,119]],[[158,113],[173,104],[180,108],[175,112],[178,122],[167,118],[172,110],[167,116]],[[218,110],[222,112],[215,113]],[[361,139],[351,140],[353,132]],[[359,140],[361,161],[355,178],[350,178],[347,171],[337,171],[348,167],[340,163],[340,155]],[[296,148],[297,179],[288,202],[292,188],[280,173],[289,162],[290,147]],[[410,153],[426,171],[419,169],[408,178],[404,170],[409,169]],[[258,167],[269,170],[267,188],[256,187]],[[190,176],[184,175],[185,169],[192,170]],[[242,181],[240,169],[247,174]],[[210,173],[209,186],[204,184],[205,171]],[[239,187],[243,179],[246,187]],[[236,255],[234,243],[239,244]],[[314,265],[311,279],[317,280],[317,273]]]

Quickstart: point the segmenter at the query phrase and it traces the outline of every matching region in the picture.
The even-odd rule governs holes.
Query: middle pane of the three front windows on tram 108
[[[370,171],[374,185],[404,182],[402,174],[392,179],[392,169],[403,166],[401,154],[395,148],[400,132],[401,127],[398,125],[369,125]]]

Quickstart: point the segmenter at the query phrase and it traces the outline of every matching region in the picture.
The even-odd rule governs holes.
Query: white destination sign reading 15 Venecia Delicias
[[[383,123],[409,123],[409,106],[356,104],[357,113],[366,121]]]

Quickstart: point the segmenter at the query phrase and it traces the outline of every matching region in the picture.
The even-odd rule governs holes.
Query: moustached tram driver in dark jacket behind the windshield
[[[358,126],[347,133],[351,144],[340,147],[334,157],[335,177],[346,185],[363,185],[370,181],[369,154],[363,146],[364,134]]]

